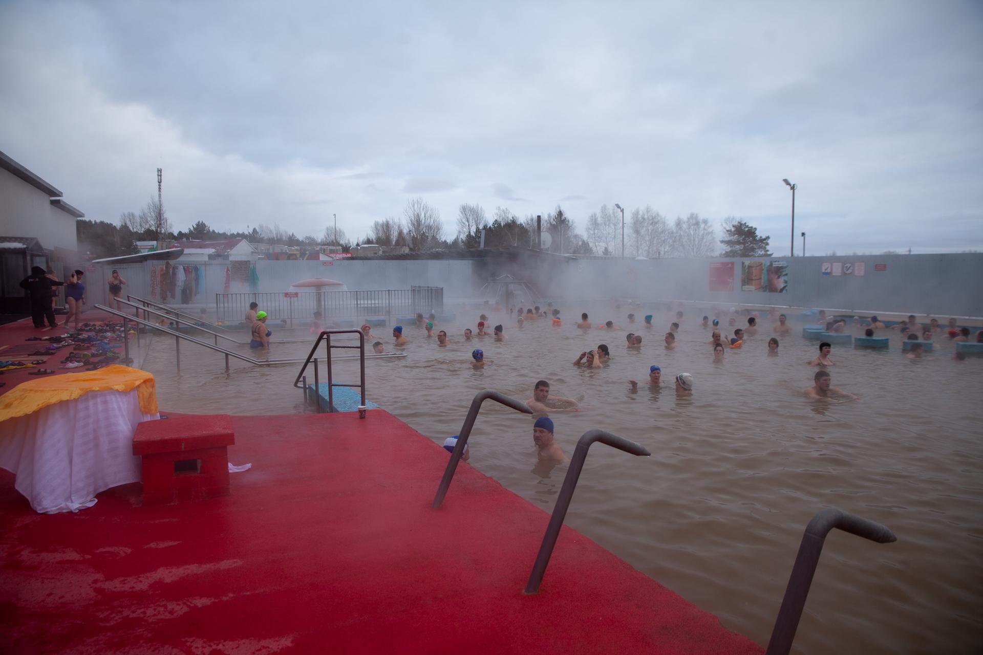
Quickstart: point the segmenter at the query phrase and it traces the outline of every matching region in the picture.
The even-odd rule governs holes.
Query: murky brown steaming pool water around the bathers
[[[552,416],[568,455],[594,427],[653,452],[634,458],[595,445],[567,522],[727,628],[767,644],[806,522],[836,507],[888,525],[898,541],[831,533],[796,652],[980,652],[983,359],[957,363],[952,344],[941,344],[912,361],[899,352],[897,337],[888,353],[834,348],[834,385],[862,400],[808,401],[800,392],[811,384],[815,369],[805,361],[817,343],[803,340],[797,323],[778,357],[766,356],[766,327],[715,364],[696,316],[686,319],[674,352],[662,346],[670,320],[664,314],[657,313],[651,332],[631,326],[645,340],[639,353],[625,349],[626,330],[585,335],[573,327],[573,313],[564,311],[568,324],[559,329],[548,321],[522,331],[507,323],[504,344],[491,337],[464,343],[459,321],[438,326],[452,344],[437,348],[408,327],[408,357],[367,365],[369,397],[442,442],[458,432],[476,392],[527,400],[545,378],[554,395],[589,409]],[[389,330],[378,333],[389,350]],[[609,365],[571,365],[599,343],[610,347]],[[484,370],[470,366],[473,348],[492,360]],[[187,344],[181,350],[180,376],[172,340],[157,338],[145,361],[163,409],[304,410],[291,387],[299,364],[260,369],[233,361],[226,374],[221,355]],[[271,356],[307,350],[274,343]],[[693,397],[677,399],[670,386],[630,393],[626,380],[644,380],[652,363],[669,381],[672,373],[692,373]],[[355,379],[353,367],[343,370],[352,372],[343,379]],[[566,466],[537,465],[529,417],[487,403],[470,444],[472,465],[551,510]],[[534,558],[530,553],[530,566]]]

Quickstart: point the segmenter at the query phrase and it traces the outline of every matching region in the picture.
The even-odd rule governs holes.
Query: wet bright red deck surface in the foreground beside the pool
[[[236,416],[231,495],[37,515],[0,471],[0,651],[759,653],[394,416]],[[576,497],[574,498],[576,502]]]

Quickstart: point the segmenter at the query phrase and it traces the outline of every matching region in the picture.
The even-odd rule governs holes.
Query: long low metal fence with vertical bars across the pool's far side
[[[311,320],[315,311],[325,319],[442,312],[443,288],[215,294],[215,320],[242,320],[250,302],[259,303],[267,315],[286,319],[292,326],[295,320]]]

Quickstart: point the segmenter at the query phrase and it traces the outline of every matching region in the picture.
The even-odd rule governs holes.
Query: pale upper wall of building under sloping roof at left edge
[[[44,191],[0,169],[0,236],[33,237],[41,246],[78,250],[75,217],[52,206]]]

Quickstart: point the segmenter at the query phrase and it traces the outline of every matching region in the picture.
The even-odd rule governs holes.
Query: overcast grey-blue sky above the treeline
[[[983,2],[0,0],[0,150],[116,222],[361,238],[421,195],[983,249]]]

